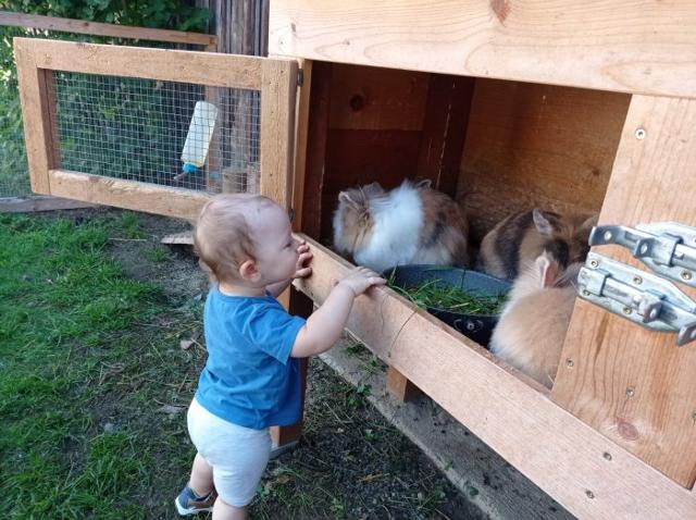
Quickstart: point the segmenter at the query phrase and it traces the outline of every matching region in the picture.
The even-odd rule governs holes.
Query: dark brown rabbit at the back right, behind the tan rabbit
[[[597,215],[559,214],[534,209],[499,222],[481,243],[478,271],[514,280],[521,267],[547,251],[561,268],[584,262],[589,251],[589,232]]]

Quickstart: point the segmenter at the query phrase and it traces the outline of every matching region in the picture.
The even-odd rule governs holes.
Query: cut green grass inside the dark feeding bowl
[[[495,314],[505,301],[505,295],[464,293],[437,280],[413,286],[400,286],[389,280],[388,285],[422,309],[430,307],[462,314]]]

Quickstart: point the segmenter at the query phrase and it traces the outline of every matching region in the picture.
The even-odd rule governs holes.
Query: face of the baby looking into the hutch
[[[257,269],[264,285],[288,280],[295,274],[298,243],[287,213],[279,207],[263,207],[252,220]]]

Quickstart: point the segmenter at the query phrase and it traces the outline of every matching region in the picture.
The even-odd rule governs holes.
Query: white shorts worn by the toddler
[[[269,430],[227,422],[194,399],[188,408],[188,433],[198,453],[212,466],[215,490],[223,502],[236,507],[248,505],[269,463]]]

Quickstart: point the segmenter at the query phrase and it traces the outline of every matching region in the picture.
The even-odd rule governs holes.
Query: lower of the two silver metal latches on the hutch
[[[577,275],[577,294],[652,331],[676,332],[680,347],[696,339],[696,304],[655,274],[591,251]]]

